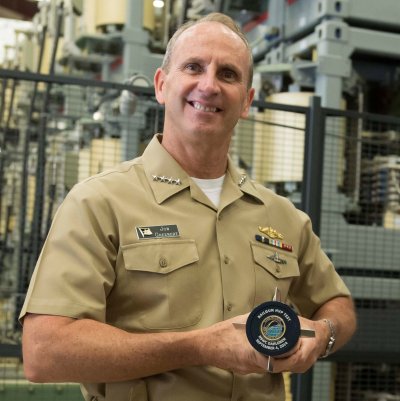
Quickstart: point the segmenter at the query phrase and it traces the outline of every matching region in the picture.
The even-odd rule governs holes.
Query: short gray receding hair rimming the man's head
[[[247,53],[249,56],[249,74],[248,74],[247,88],[250,89],[251,84],[253,82],[253,53],[251,51],[251,47],[249,45],[249,42],[247,41],[245,34],[240,29],[240,27],[235,23],[235,21],[231,17],[228,17],[227,15],[221,13],[211,13],[203,18],[200,18],[197,21],[188,21],[185,24],[181,25],[168,42],[161,68],[166,72],[168,72],[176,41],[182,35],[182,33],[185,32],[187,29],[191,28],[192,26],[201,24],[203,22],[219,22],[225,25],[227,28],[229,28],[232,32],[236,33],[236,35],[238,35],[240,39],[242,39],[243,43],[246,46]]]

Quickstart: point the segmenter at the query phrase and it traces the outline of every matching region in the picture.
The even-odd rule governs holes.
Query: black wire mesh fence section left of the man
[[[82,399],[77,385],[23,380],[18,314],[52,218],[68,191],[137,156],[160,130],[163,110],[146,89],[43,81],[33,74],[2,80],[0,391],[8,399]]]

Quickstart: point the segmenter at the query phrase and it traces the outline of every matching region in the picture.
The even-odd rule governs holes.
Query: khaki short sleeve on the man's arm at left
[[[118,251],[110,204],[93,185],[76,185],[57,211],[37,261],[26,313],[105,321]]]

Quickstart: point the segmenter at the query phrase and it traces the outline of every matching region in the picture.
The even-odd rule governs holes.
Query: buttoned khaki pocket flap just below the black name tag
[[[166,274],[199,260],[194,240],[157,240],[121,247],[125,268]]]

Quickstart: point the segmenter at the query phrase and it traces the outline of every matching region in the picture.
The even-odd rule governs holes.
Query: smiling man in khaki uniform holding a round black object
[[[280,372],[304,372],[330,337],[333,350],[351,337],[350,294],[309,219],[228,157],[251,77],[226,16],[171,39],[154,78],[163,134],[76,185],[54,219],[21,312],[29,380],[84,383],[87,400],[283,400]],[[255,240],[267,226],[286,249]],[[315,337],[267,372],[234,323],[276,287]]]

